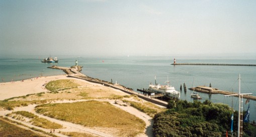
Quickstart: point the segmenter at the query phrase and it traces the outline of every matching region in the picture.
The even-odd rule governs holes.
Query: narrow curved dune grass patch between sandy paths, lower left
[[[57,124],[55,122],[51,122],[45,118],[41,118],[33,113],[30,113],[28,111],[16,111],[16,112],[12,112],[10,114],[7,114],[7,116],[12,116],[13,118],[16,119],[21,119],[22,117],[17,116],[17,115],[21,115],[27,118],[30,118],[30,122],[33,125],[39,126],[39,127],[43,127],[43,128],[48,128],[48,129],[57,129],[57,128],[62,128],[62,125]]]

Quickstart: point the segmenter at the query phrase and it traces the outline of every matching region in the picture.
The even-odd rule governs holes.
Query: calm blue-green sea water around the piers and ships
[[[156,76],[157,83],[164,85],[170,81],[170,85],[180,91],[183,83],[187,86],[187,92],[181,91],[183,100],[193,101],[190,97],[192,86],[206,85],[211,83],[212,87],[220,90],[238,92],[238,77],[241,75],[241,93],[253,93],[256,96],[256,67],[255,66],[192,66],[170,65],[173,58],[170,57],[58,57],[59,63],[41,63],[39,57],[24,58],[0,58],[0,80],[1,82],[20,81],[39,76],[61,75],[61,70],[48,69],[48,66],[58,65],[70,67],[75,65],[83,66],[82,73],[90,77],[99,78],[105,81],[113,80],[113,83],[133,88],[148,88],[150,82],[154,83]],[[177,63],[226,63],[226,64],[256,64],[256,60],[238,59],[190,59],[183,57],[176,58]],[[194,83],[194,84],[193,84]],[[202,99],[211,100],[215,103],[225,103],[231,106],[232,97],[224,97],[222,94],[199,93]],[[250,120],[256,120],[256,101],[250,100],[244,104],[243,110],[247,110],[250,104]],[[233,97],[233,106],[238,109],[238,98]]]

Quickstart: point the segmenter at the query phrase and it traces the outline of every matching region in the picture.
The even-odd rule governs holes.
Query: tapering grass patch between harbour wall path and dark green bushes
[[[123,102],[128,102],[131,104],[132,107],[148,114],[149,116],[154,116],[156,113],[165,111],[165,108],[160,108],[159,106],[152,104],[150,102],[135,102],[135,101],[130,101],[130,100],[123,100]]]

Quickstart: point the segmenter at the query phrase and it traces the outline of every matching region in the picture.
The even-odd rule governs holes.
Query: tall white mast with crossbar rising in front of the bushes
[[[238,98],[239,98],[239,108],[238,108],[238,127],[237,127],[237,137],[242,137],[242,96],[243,95],[249,95],[249,94],[252,94],[252,93],[242,93],[241,94],[241,78],[240,78],[240,74],[239,74],[239,92],[238,94],[232,94],[232,95],[224,95],[224,96],[235,96],[235,95],[238,95]]]

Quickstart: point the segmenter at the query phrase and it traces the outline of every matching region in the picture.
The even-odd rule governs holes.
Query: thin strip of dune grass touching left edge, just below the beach
[[[29,104],[42,104],[46,103],[47,100],[33,100],[33,101],[0,101],[0,107],[7,109],[7,110],[13,110],[14,107],[20,107],[20,106],[28,106]]]

